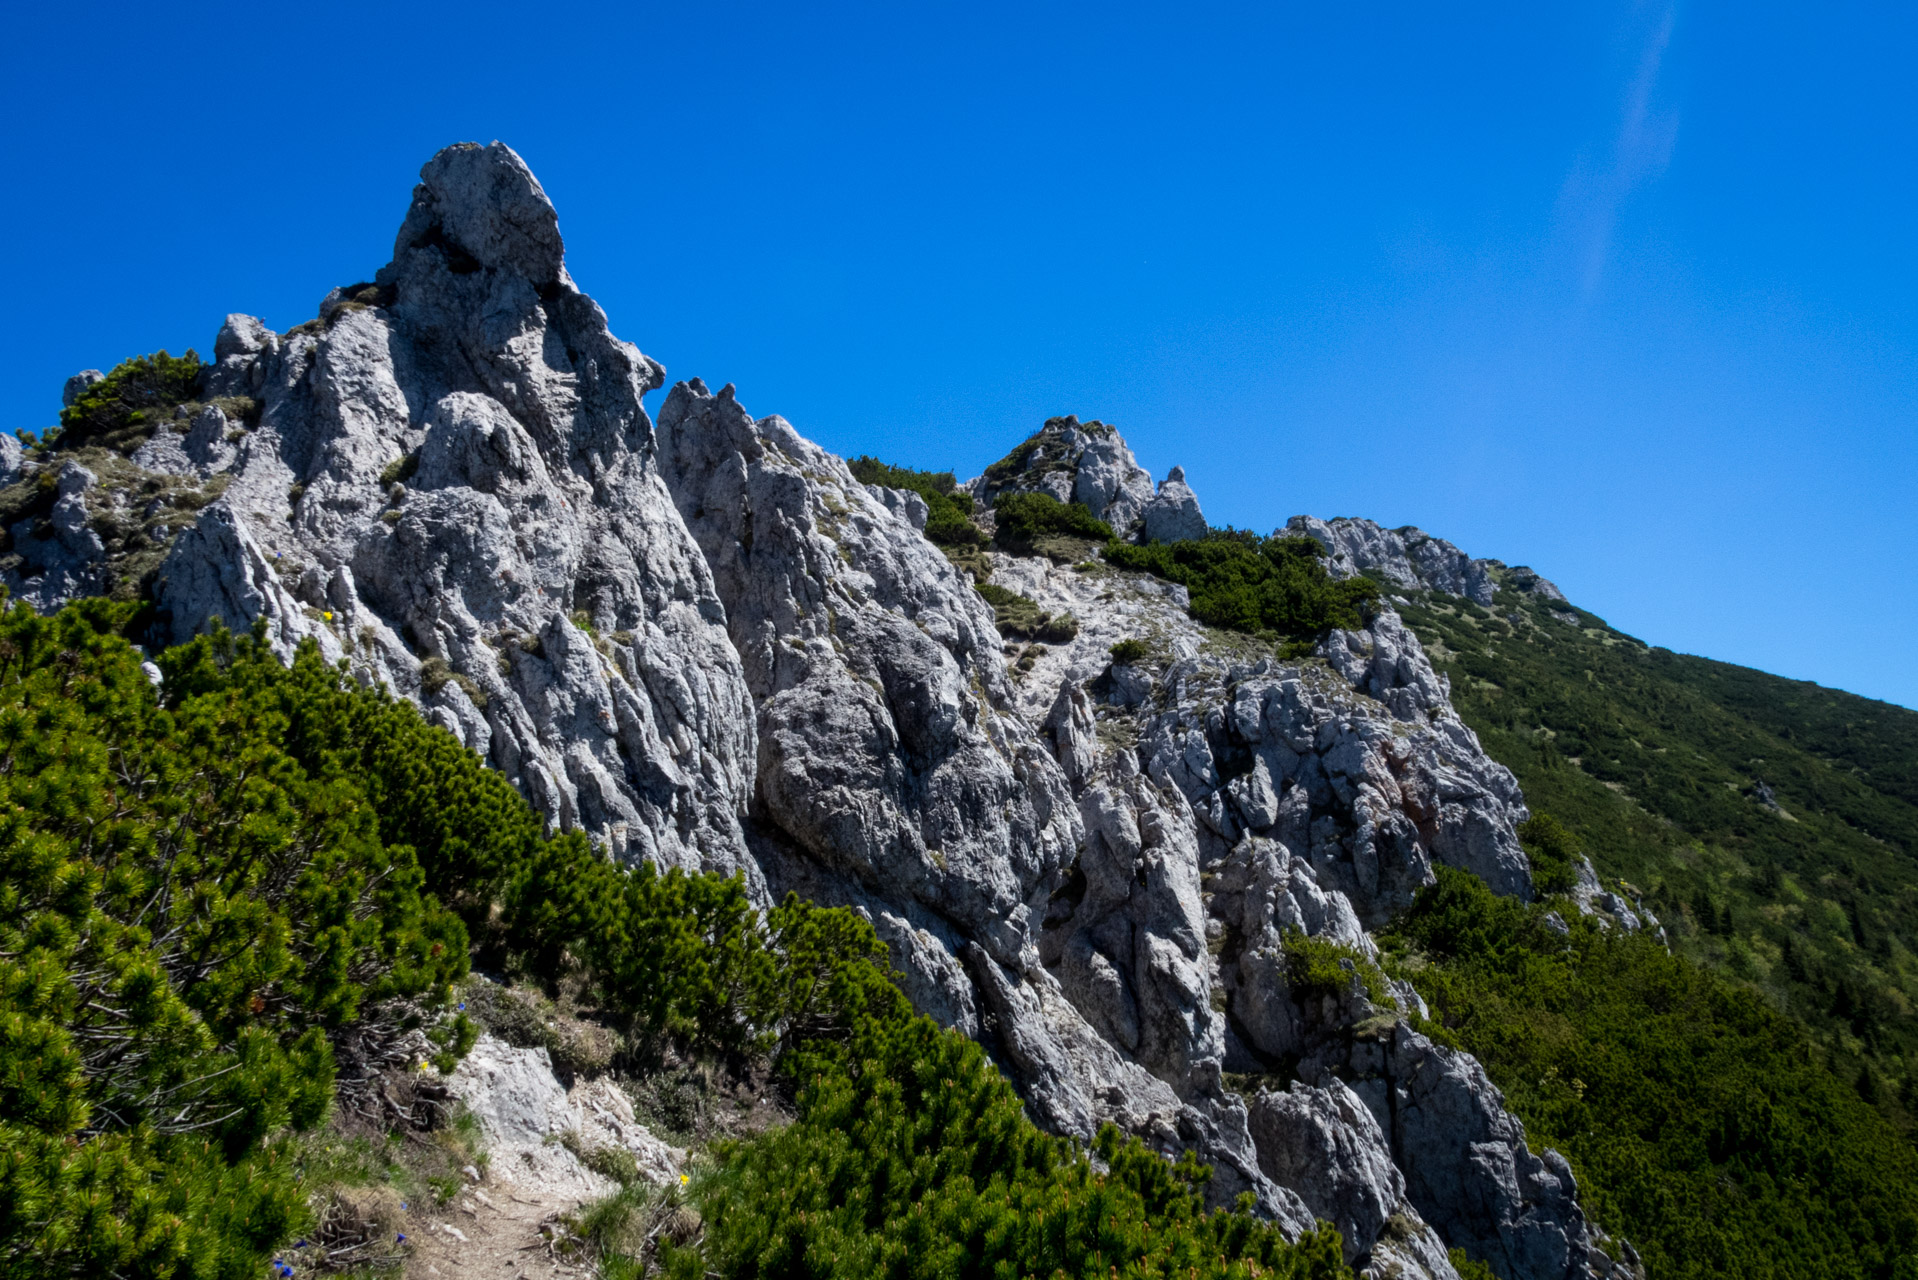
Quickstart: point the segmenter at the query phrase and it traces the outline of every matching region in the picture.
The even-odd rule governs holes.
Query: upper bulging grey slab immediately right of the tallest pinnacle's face
[[[758,702],[767,818],[1020,963],[1026,900],[1078,821],[1051,754],[994,706],[992,608],[840,459],[731,388],[673,388],[660,464]]]

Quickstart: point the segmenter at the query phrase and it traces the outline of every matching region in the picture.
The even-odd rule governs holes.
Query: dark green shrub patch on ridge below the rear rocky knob
[[[1379,599],[1369,578],[1335,580],[1310,537],[1258,537],[1212,530],[1180,543],[1109,543],[1118,568],[1155,574],[1187,587],[1191,616],[1206,626],[1312,641],[1331,628],[1356,628]]]

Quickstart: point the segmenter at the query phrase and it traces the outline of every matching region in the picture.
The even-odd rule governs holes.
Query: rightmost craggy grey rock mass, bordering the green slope
[[[1435,862],[1531,896],[1513,833],[1523,796],[1452,712],[1417,637],[1385,610],[1316,658],[1283,662],[1193,624],[1147,578],[995,558],[994,580],[1082,624],[1017,697],[1051,733],[1086,814],[1086,848],[1040,954],[1088,1023],[1158,1073],[1176,1061],[1195,1094],[1214,1061],[1322,1090],[1254,1096],[1251,1138],[1274,1184],[1341,1222],[1366,1274],[1450,1276],[1446,1244],[1502,1274],[1605,1274],[1575,1188],[1552,1182],[1557,1157],[1531,1153],[1469,1055],[1406,1040],[1404,1011],[1423,1011],[1412,988],[1389,984],[1381,1000],[1358,981],[1377,954],[1368,925],[1431,883]],[[1157,656],[1141,672],[1111,666],[1118,639]],[[1151,783],[1151,806],[1132,771]],[[1199,902],[1176,906],[1191,879]],[[1195,923],[1208,960],[1181,967]],[[1157,969],[1141,963],[1141,931],[1157,938]],[[1293,988],[1293,931],[1346,948],[1350,990]],[[1224,1034],[1203,1034],[1189,1009],[1220,1006]]]

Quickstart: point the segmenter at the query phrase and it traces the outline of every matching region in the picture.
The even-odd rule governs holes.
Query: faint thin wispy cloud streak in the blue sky
[[[1605,276],[1619,209],[1634,190],[1665,173],[1678,138],[1678,111],[1655,106],[1676,10],[1667,4],[1646,13],[1646,19],[1632,77],[1621,94],[1619,129],[1609,155],[1600,163],[1580,159],[1559,188],[1559,217],[1573,236],[1579,284],[1586,297]]]

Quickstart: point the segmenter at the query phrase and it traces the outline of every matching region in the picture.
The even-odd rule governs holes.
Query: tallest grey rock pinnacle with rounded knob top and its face
[[[566,274],[552,205],[508,148],[422,169],[374,286],[276,336],[228,317],[219,409],[140,462],[224,482],[155,595],[173,639],[267,618],[386,681],[562,827],[625,858],[744,869],[752,699],[673,510],[641,395],[660,367]],[[77,533],[79,535],[79,533]],[[42,578],[38,603],[82,593]],[[577,624],[575,624],[577,620]]]

